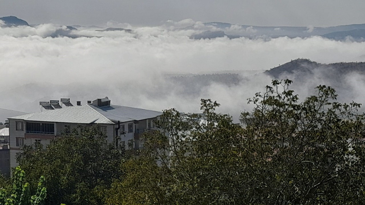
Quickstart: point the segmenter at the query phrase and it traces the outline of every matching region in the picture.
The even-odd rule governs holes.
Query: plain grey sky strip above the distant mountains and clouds
[[[253,26],[337,26],[364,23],[364,0],[0,0],[0,16],[30,24],[137,26],[193,19]]]

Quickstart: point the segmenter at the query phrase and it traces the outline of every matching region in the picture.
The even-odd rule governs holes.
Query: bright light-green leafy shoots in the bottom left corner
[[[16,167],[12,175],[12,186],[1,187],[0,204],[3,205],[43,205],[47,195],[47,189],[44,187],[45,178],[41,176],[38,184],[35,185],[36,192],[31,195],[30,184],[26,182],[26,174]]]

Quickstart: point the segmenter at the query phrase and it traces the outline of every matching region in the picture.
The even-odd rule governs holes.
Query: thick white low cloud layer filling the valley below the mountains
[[[196,112],[200,98],[212,98],[222,104],[220,112],[229,112],[237,118],[240,111],[251,108],[247,98],[263,91],[270,84],[270,77],[260,74],[230,86],[212,83],[191,93],[166,80],[166,74],[222,70],[259,73],[296,58],[320,63],[365,61],[364,42],[341,42],[318,36],[195,40],[189,38],[194,30],[176,29],[192,23],[199,25],[188,19],[168,21],[160,27],[127,25],[132,33],[70,31],[79,36],[98,36],[80,38],[47,37],[56,30],[67,30],[53,24],[0,28],[0,107],[34,112],[39,111],[39,100],[70,97],[84,103],[108,96],[112,104],[154,110],[175,107]],[[364,100],[353,94],[363,92],[363,76],[353,74],[343,80],[348,81],[351,90],[350,94],[345,93],[346,97],[354,95]],[[320,74],[306,82],[294,86],[299,94],[310,93],[320,83],[331,83],[321,79]]]

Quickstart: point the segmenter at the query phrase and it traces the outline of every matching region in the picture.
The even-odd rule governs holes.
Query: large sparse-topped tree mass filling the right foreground
[[[290,84],[273,81],[249,99],[255,107],[242,113],[245,128],[211,100],[201,101],[199,116],[164,111],[143,136],[142,155],[122,166],[108,203],[362,204],[360,104],[337,102],[323,85],[300,101]]]

